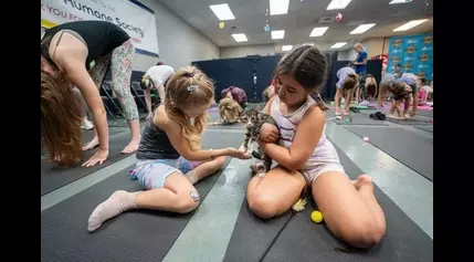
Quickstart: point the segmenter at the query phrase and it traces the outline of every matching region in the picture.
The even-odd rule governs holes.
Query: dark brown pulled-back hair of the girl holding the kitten
[[[304,44],[288,52],[276,65],[276,74],[289,74],[308,93],[319,94],[327,71],[327,62],[324,54],[314,45]],[[322,111],[328,107],[322,99],[316,101]]]

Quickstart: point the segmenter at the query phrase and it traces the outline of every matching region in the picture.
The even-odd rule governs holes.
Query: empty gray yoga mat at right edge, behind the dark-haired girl
[[[348,130],[433,181],[433,138],[399,127],[346,126]]]

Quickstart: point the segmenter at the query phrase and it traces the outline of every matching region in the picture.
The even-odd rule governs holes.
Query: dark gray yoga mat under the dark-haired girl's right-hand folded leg
[[[347,175],[356,179],[362,171],[344,151],[335,146]],[[407,214],[375,186],[375,195],[383,209],[387,221],[386,235],[379,245],[369,251],[356,251],[336,240],[326,224],[310,220],[312,205],[296,213],[263,261],[390,261],[432,262],[433,241]],[[340,248],[348,250],[344,252]],[[250,261],[250,260],[245,260]]]

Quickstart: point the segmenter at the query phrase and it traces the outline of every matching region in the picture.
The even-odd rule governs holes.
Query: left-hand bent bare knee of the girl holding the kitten
[[[266,175],[254,176],[246,186],[250,209],[262,219],[286,212],[299,199],[306,180],[299,172],[275,167]]]

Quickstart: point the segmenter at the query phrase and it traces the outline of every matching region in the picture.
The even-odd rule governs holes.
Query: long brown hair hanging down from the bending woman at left
[[[62,72],[41,71],[41,133],[49,158],[61,166],[78,164],[82,107]]]

